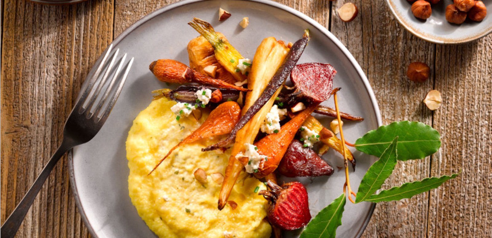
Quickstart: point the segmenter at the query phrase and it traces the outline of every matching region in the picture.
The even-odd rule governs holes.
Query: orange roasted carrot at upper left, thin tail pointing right
[[[218,88],[229,88],[247,91],[246,88],[238,87],[224,81],[213,79],[197,71],[190,69],[185,64],[173,59],[159,59],[149,65],[154,76],[163,82],[188,83],[196,82]]]

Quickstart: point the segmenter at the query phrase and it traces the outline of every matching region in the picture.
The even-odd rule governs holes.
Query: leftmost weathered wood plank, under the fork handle
[[[113,39],[112,1],[49,6],[6,0],[1,67],[1,220],[61,143],[93,62]],[[87,237],[62,158],[17,237]]]

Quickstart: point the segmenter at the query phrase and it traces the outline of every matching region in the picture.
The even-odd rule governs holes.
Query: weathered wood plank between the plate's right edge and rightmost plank
[[[337,9],[345,2],[332,2],[331,31],[366,73],[381,109],[383,124],[416,120],[431,125],[432,113],[422,100],[432,89],[433,77],[424,83],[415,83],[406,77],[406,69],[409,63],[421,61],[433,72],[435,46],[401,27],[385,1],[351,1],[359,8],[359,15],[352,22],[342,22]],[[399,162],[383,188],[421,180],[429,176],[429,170],[429,158]],[[363,237],[425,237],[428,205],[427,193],[399,202],[380,203]]]

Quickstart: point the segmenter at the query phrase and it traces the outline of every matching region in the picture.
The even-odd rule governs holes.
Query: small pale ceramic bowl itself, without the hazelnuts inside
[[[483,0],[489,14],[482,22],[466,19],[461,25],[446,21],[445,9],[447,5],[453,3],[453,0],[440,0],[437,4],[432,5],[432,14],[427,20],[416,18],[410,9],[411,2],[407,0],[386,0],[386,2],[401,26],[415,36],[432,43],[461,44],[474,41],[492,32],[491,0]]]

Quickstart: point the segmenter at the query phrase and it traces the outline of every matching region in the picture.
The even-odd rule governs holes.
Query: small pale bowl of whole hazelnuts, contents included
[[[400,24],[437,44],[461,44],[492,32],[492,0],[386,0]]]

